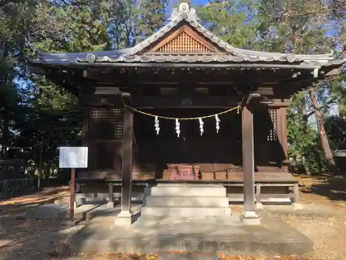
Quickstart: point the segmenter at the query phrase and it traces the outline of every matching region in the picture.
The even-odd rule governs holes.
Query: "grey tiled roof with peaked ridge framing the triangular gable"
[[[181,28],[190,26],[220,50],[219,53],[153,53],[150,49]],[[224,42],[204,28],[198,21],[193,8],[174,11],[170,21],[143,42],[129,49],[99,51],[90,53],[37,53],[28,58],[35,67],[69,67],[69,69],[89,67],[123,68],[215,68],[215,69],[323,69],[329,72],[340,67],[346,58],[336,59],[334,53],[300,55],[293,53],[271,53],[239,49]],[[327,68],[328,67],[328,68]]]

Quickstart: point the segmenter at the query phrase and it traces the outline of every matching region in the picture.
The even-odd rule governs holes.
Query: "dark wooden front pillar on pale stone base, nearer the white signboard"
[[[124,107],[124,134],[122,142],[122,182],[121,182],[121,211],[116,217],[116,225],[131,225],[131,189],[132,164],[134,146],[134,114]]]

